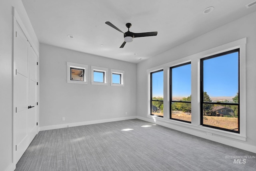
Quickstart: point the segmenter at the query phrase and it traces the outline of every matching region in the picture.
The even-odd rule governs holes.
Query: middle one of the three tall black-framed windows
[[[170,119],[191,123],[191,63],[170,68]]]

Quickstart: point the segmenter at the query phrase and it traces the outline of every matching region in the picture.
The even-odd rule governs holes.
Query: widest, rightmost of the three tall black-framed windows
[[[201,59],[201,125],[240,132],[239,49]]]

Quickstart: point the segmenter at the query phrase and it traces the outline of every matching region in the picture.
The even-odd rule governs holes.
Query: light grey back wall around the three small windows
[[[88,84],[67,83],[66,62],[88,65]],[[40,130],[54,128],[47,127],[51,125],[58,128],[63,126],[60,124],[66,127],[70,123],[136,117],[136,64],[45,44],[40,44],[39,64]],[[124,70],[124,87],[90,84],[90,66],[108,68],[108,75],[110,69]]]

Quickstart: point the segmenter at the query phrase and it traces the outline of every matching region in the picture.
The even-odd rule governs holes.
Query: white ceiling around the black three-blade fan
[[[22,0],[40,43],[138,63],[256,11],[253,0]],[[209,14],[205,8],[213,6]],[[121,32],[158,32],[124,42]],[[232,31],[232,30],[230,30]],[[70,39],[67,35],[73,35]],[[101,45],[104,46],[101,46]],[[134,55],[137,54],[137,55]],[[142,58],[141,60],[139,60]]]

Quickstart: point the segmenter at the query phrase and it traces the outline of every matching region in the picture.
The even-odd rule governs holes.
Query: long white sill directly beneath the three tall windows
[[[212,133],[212,134],[216,134],[216,135],[221,135],[223,137],[246,141],[246,136],[241,135],[239,133],[233,133],[233,132],[223,131],[223,130],[214,129],[214,128],[210,128],[210,127],[204,127],[202,125],[195,126],[195,125],[192,125],[191,123],[186,123],[186,122],[176,121],[176,120],[171,120],[171,119],[164,119],[164,118],[158,117],[158,116],[147,115],[147,117],[154,119],[154,121],[157,121],[157,120],[164,121],[164,122],[172,123],[172,124],[175,124],[178,126],[182,126],[182,127],[186,127],[186,128],[190,128],[190,129],[196,129],[199,131],[204,131],[206,133]]]

